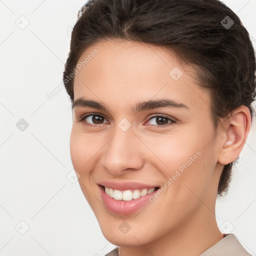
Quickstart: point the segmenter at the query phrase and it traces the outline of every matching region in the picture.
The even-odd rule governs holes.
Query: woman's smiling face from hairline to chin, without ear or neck
[[[70,153],[105,238],[145,244],[214,217],[218,148],[192,67],[125,40],[95,43],[78,63],[86,57],[74,78]]]

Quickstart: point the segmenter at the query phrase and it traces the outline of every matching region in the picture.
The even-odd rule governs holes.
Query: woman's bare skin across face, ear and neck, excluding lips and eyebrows
[[[99,52],[75,74],[74,100],[80,97],[103,102],[106,110],[76,106],[70,153],[79,173],[81,190],[93,210],[104,237],[127,255],[199,255],[222,238],[215,217],[215,200],[224,164],[236,159],[250,129],[245,106],[221,120],[217,133],[210,115],[209,91],[196,84],[191,66],[181,65],[174,54],[159,46],[108,39],[82,53],[84,60]],[[182,76],[174,80],[170,70]],[[168,98],[186,108],[161,107],[134,114],[139,101]],[[101,124],[86,113],[100,115]],[[176,120],[160,125],[153,114]],[[131,127],[118,123],[126,118]],[[167,123],[167,124],[165,124]],[[215,136],[215,134],[217,134]],[[97,183],[105,180],[139,181],[163,185],[182,163],[201,154],[184,169],[154,202],[128,215],[111,213],[104,206]],[[126,221],[130,230],[118,226]]]

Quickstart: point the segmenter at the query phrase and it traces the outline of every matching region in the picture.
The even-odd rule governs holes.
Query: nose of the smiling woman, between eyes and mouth
[[[122,131],[117,127],[112,138],[104,146],[101,166],[113,175],[122,175],[124,170],[137,170],[143,164],[143,145],[130,128]]]

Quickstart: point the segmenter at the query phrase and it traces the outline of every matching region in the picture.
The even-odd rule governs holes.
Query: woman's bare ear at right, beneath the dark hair
[[[251,117],[248,107],[237,107],[222,123],[218,162],[228,164],[240,154],[250,130]]]

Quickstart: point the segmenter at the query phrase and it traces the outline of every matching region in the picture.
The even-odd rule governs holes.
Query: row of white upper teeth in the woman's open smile
[[[112,189],[111,187],[105,186],[105,192],[107,195],[114,198],[115,200],[124,200],[124,201],[130,201],[132,199],[137,199],[138,197],[144,196],[153,191],[154,191],[154,187],[151,187],[149,189],[143,188],[141,191],[139,191],[138,189],[135,189],[133,192],[131,192],[130,189],[120,191],[120,190]]]

